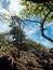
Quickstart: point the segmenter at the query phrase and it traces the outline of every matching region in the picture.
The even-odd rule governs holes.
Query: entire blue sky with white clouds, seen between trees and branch
[[[5,32],[10,30],[9,23],[2,20],[1,14],[6,13],[9,16],[13,14],[19,15],[19,11],[23,8],[25,6],[21,5],[19,0],[0,0],[0,32]],[[30,19],[39,19],[39,18],[31,16]],[[41,31],[39,28],[40,25],[38,23],[26,22],[25,25],[26,26],[24,31],[26,32],[27,38],[30,38],[43,45],[50,47],[53,46],[53,43],[41,37]],[[44,27],[48,27],[48,29],[44,31],[45,34],[53,39],[53,22],[51,24],[45,24]]]

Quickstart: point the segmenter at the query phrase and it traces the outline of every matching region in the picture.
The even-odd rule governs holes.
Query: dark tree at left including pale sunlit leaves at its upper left
[[[3,13],[2,18],[10,23],[11,31],[10,34],[13,37],[13,44],[18,45],[22,44],[25,40],[24,32],[24,20],[22,20],[17,15],[6,15]]]

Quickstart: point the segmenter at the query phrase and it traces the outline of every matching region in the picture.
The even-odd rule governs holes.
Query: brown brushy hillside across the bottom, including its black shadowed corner
[[[15,46],[0,47],[0,69],[3,70],[53,70],[52,50],[23,51]]]

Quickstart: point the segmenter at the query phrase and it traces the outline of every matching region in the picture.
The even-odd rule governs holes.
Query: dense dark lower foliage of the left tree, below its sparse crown
[[[24,42],[25,33],[24,33],[24,31],[22,30],[21,27],[13,26],[10,33],[13,36],[13,40],[14,40],[13,43],[15,45],[18,45],[18,44]]]

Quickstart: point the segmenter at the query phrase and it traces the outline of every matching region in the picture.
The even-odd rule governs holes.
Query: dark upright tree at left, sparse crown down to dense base
[[[13,44],[18,45],[25,41],[25,32],[23,30],[24,23],[17,16],[11,16],[11,24],[12,27],[10,33],[13,36]]]

